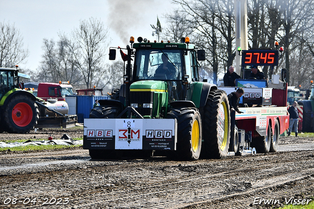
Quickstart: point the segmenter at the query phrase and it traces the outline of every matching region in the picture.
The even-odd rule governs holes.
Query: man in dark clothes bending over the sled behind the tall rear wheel
[[[243,113],[239,110],[238,104],[240,97],[244,94],[243,88],[238,88],[236,91],[228,94],[229,106],[230,106],[230,143],[234,144],[235,134],[235,111],[237,113]]]

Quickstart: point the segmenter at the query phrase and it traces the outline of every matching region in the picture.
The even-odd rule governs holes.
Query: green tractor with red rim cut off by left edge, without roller
[[[26,133],[39,119],[36,97],[20,89],[19,78],[28,78],[16,68],[0,68],[0,131]]]

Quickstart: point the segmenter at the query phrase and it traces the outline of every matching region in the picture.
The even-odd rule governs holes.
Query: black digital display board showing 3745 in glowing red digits
[[[275,66],[278,65],[277,50],[243,50],[242,66],[258,65],[258,66]]]

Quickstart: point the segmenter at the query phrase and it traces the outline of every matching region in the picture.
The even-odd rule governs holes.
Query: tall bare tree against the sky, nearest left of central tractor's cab
[[[72,31],[77,46],[75,61],[83,75],[87,88],[103,79],[105,73],[105,52],[111,40],[108,38],[108,28],[104,24],[90,18],[81,21],[79,28]]]

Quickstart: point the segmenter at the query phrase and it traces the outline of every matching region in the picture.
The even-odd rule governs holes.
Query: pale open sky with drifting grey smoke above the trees
[[[58,41],[80,20],[100,19],[109,28],[110,46],[125,47],[130,36],[155,40],[150,24],[165,26],[163,15],[176,6],[171,0],[0,0],[0,21],[20,30],[29,55],[20,68],[36,70],[42,60],[43,39]],[[161,3],[162,2],[162,3]],[[109,51],[109,50],[108,50]]]

